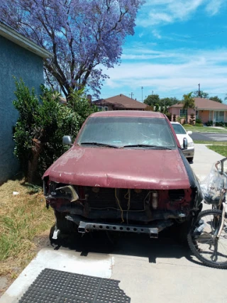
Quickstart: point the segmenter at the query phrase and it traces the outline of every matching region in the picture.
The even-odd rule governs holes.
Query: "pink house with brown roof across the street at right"
[[[208,121],[227,122],[227,105],[204,98],[194,98],[195,109],[183,109],[183,104],[174,104],[168,108],[170,114],[178,116],[188,116],[194,114],[195,119],[201,119],[202,123]]]

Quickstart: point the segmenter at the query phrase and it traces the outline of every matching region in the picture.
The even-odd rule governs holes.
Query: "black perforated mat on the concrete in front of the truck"
[[[129,303],[120,281],[45,268],[18,303]]]

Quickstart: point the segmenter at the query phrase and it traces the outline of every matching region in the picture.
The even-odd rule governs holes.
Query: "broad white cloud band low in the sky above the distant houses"
[[[135,62],[126,60],[131,57],[124,57],[121,66],[106,71],[110,79],[106,80],[102,93],[114,89],[118,94],[127,88],[135,96],[137,91],[139,96],[140,87],[143,86],[144,95],[154,90],[160,95],[182,96],[196,90],[198,83],[206,92],[226,92],[227,49],[190,52],[182,49],[156,53],[136,50],[131,56],[134,56]]]

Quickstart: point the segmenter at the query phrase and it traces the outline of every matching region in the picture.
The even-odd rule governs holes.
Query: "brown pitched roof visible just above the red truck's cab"
[[[146,104],[128,98],[124,94],[118,94],[111,98],[99,99],[93,102],[95,105],[112,105],[118,109],[145,109],[147,107]]]

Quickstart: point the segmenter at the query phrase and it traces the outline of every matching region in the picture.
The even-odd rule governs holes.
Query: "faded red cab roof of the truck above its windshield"
[[[90,117],[142,117],[165,119],[164,114],[156,111],[97,111]]]

